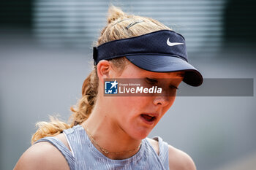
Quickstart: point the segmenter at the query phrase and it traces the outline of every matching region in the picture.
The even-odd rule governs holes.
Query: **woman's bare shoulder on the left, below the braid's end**
[[[69,165],[61,152],[49,142],[33,144],[21,155],[14,170],[58,170],[69,169]]]

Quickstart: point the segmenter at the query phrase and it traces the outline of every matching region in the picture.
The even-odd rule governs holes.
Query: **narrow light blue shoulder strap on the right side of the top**
[[[159,158],[166,169],[169,169],[169,150],[167,142],[164,142],[161,137],[155,136],[153,139],[159,144]]]

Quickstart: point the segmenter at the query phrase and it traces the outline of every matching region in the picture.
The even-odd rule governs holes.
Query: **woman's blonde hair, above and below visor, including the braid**
[[[120,8],[110,6],[108,9],[107,26],[102,29],[95,45],[99,46],[105,42],[110,42],[116,39],[140,36],[163,29],[171,30],[152,18],[128,15]],[[129,61],[125,57],[121,57],[111,59],[110,63],[113,63],[113,66],[118,69],[118,72],[122,72]],[[76,106],[70,108],[73,112],[69,118],[71,121],[70,124],[64,123],[56,117],[50,117],[50,122],[37,123],[38,129],[31,138],[31,144],[45,136],[56,136],[65,129],[72,128],[74,125],[78,125],[87,120],[97,101],[98,83],[97,66],[94,66],[94,69],[83,82],[82,97]]]

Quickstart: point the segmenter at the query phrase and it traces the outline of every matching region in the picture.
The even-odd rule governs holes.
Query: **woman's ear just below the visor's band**
[[[104,79],[110,78],[113,69],[109,61],[102,60],[97,64],[97,74],[100,82],[104,82]]]

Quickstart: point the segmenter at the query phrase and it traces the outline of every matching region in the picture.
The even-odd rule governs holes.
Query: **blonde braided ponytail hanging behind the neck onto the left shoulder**
[[[38,139],[46,136],[56,136],[61,134],[67,128],[72,128],[74,125],[78,125],[87,120],[91,114],[91,110],[94,107],[97,88],[98,77],[96,66],[89,76],[84,80],[82,87],[82,97],[78,101],[77,106],[71,107],[70,110],[74,112],[71,117],[71,124],[60,121],[57,117],[50,116],[50,122],[39,122],[36,124],[38,127],[36,133],[31,138],[31,144],[34,144]]]

